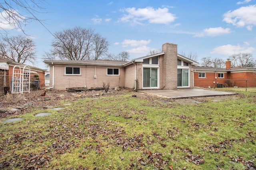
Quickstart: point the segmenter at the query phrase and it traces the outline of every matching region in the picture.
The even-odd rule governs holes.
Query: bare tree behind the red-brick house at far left
[[[3,37],[0,42],[0,56],[15,61],[17,63],[34,63],[36,50],[32,39],[18,35],[12,37]]]

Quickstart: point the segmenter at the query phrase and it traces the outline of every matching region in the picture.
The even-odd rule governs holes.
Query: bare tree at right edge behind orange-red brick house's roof
[[[232,67],[255,67],[256,61],[253,60],[252,54],[250,53],[239,53],[230,56]]]

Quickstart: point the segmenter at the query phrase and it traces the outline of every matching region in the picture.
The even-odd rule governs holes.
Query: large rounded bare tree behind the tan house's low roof
[[[50,53],[61,60],[98,60],[109,43],[93,29],[75,27],[54,33]]]

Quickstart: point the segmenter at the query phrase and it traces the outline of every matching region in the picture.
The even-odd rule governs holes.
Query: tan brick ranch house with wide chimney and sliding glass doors
[[[177,45],[165,43],[162,52],[132,61],[44,61],[50,66],[50,88],[177,89],[193,88],[193,69],[197,65],[177,54]]]

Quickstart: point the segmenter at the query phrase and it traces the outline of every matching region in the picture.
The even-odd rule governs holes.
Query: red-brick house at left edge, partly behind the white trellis
[[[0,88],[3,89],[4,87],[10,87],[11,86],[11,79],[13,74],[13,68],[14,66],[18,66],[20,68],[28,67],[25,64],[17,63],[8,59],[4,59],[0,57]],[[33,66],[29,66],[30,68],[30,78],[32,81],[34,75],[39,76],[40,80],[40,87],[44,86],[44,73],[45,70],[36,68]],[[0,96],[2,96],[2,90],[0,92]]]

